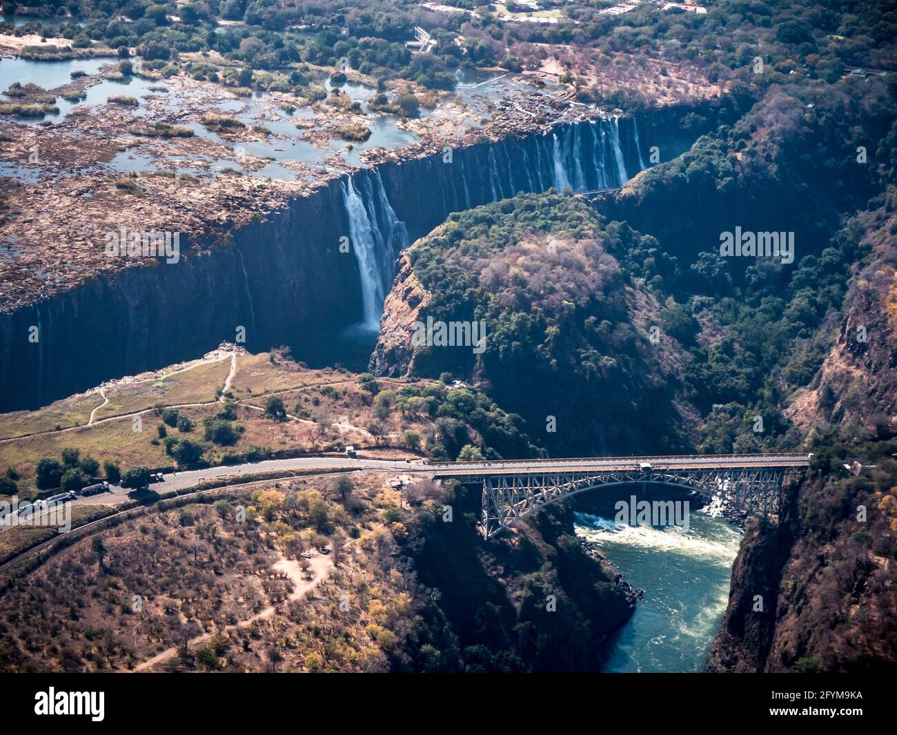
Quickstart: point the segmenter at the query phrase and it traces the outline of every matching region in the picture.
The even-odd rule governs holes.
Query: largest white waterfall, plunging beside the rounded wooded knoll
[[[378,329],[396,254],[408,244],[408,232],[389,204],[379,171],[373,170],[365,180],[363,198],[352,177],[341,186],[361,280],[362,323]]]

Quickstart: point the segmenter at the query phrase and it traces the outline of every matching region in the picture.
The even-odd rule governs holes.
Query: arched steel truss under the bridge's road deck
[[[782,484],[800,468],[614,468],[582,471],[535,471],[483,477],[480,529],[492,538],[530,513],[563,498],[601,487],[651,483],[682,487],[717,503],[731,517],[760,515],[778,522]]]

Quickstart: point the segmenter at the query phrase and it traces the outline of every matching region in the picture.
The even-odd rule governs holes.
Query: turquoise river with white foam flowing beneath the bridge
[[[741,532],[703,513],[691,514],[687,530],[577,513],[576,532],[645,591],[603,670],[701,671],[726,610]]]

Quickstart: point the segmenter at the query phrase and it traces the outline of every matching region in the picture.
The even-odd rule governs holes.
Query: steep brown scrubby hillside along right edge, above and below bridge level
[[[839,319],[807,354],[821,364],[788,397],[813,471],[779,528],[755,527],[733,571],[711,670],[862,670],[897,663],[897,323],[894,194],[840,233],[862,245]],[[794,363],[794,361],[792,361]],[[858,476],[844,468],[859,462]],[[753,610],[753,596],[765,608]]]

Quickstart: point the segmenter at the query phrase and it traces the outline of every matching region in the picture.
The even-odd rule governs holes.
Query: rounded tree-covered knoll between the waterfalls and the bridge
[[[408,251],[371,369],[470,378],[555,452],[680,449],[682,351],[651,341],[660,305],[614,258],[652,245],[551,193],[452,214]],[[482,349],[414,345],[415,319],[482,320]]]

